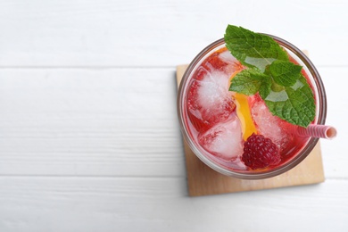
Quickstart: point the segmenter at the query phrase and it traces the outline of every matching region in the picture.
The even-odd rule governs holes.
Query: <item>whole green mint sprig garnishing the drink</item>
[[[224,38],[231,54],[249,67],[232,79],[230,91],[259,93],[273,115],[294,125],[307,127],[314,120],[314,95],[302,66],[290,62],[273,38],[232,25]]]

